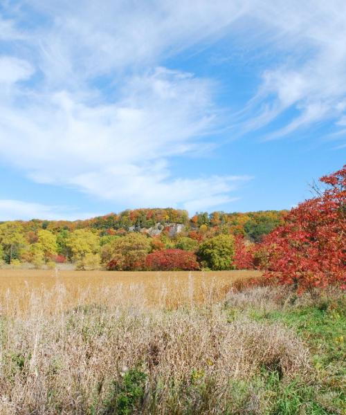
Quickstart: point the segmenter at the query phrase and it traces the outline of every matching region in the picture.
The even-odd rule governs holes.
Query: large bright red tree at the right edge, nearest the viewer
[[[325,190],[293,208],[262,244],[268,252],[266,276],[300,292],[329,284],[345,288],[346,165],[320,181]]]

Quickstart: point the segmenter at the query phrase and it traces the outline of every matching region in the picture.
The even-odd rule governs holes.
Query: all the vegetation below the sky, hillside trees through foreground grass
[[[0,413],[344,415],[346,166],[321,182],[290,212],[2,223],[12,267],[158,272],[0,291]]]

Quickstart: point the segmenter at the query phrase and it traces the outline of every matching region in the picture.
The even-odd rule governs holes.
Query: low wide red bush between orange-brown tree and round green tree
[[[147,268],[151,270],[198,270],[199,263],[196,255],[181,249],[156,250],[147,255],[145,261]]]

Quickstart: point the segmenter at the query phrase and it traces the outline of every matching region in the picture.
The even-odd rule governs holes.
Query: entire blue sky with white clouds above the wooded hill
[[[345,0],[1,0],[0,221],[290,209],[346,163]]]

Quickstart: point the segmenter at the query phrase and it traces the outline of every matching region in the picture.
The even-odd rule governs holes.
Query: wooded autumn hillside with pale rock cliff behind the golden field
[[[274,224],[283,223],[285,214],[275,211],[247,214],[205,212],[189,219],[188,213],[183,210],[138,209],[86,221],[33,219],[6,222],[0,224],[0,257],[9,265],[16,259],[15,264],[31,264],[37,268],[55,262],[71,263],[82,270],[100,267],[144,270],[150,269],[147,264],[151,257],[147,261],[147,255],[163,250],[161,257],[164,257],[167,255],[165,250],[179,249],[198,254],[203,268],[226,270],[233,268],[233,259],[225,257],[228,253],[233,257],[233,250],[221,252],[216,243],[215,252],[210,251],[208,259],[204,252],[208,241],[213,244],[218,237],[231,240],[233,235],[245,237],[249,243],[260,241]],[[270,225],[262,226],[263,223]],[[177,225],[182,225],[179,230],[176,230]],[[203,245],[205,243],[207,245]],[[218,255],[221,257],[218,258]],[[200,266],[196,268],[194,261],[190,264],[191,270]],[[181,268],[175,264],[173,268],[185,270],[186,266]]]

